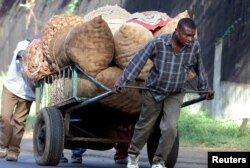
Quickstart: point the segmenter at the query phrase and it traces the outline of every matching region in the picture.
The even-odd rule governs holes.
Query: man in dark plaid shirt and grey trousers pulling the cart
[[[207,74],[202,64],[200,44],[194,38],[196,25],[190,18],[183,18],[173,33],[155,37],[138,51],[123,70],[113,91],[134,80],[148,59],[153,62],[145,81],[149,90],[142,91],[142,106],[138,122],[128,149],[127,168],[138,168],[139,154],[147,142],[157,118],[160,120],[161,137],[156,149],[152,168],[165,168],[165,161],[177,136],[177,122],[183,102],[183,87],[188,72],[198,76],[198,89],[210,91]],[[211,98],[208,92],[207,98]]]

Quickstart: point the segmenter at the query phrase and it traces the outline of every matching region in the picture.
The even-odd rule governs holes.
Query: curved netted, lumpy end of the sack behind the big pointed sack
[[[74,27],[83,22],[80,16],[73,14],[60,14],[55,15],[50,18],[50,20],[44,25],[42,29],[42,41],[45,57],[49,60],[52,68],[58,70],[59,67],[55,64],[54,60],[51,58],[51,53],[49,52],[49,47],[51,40],[54,38],[55,34],[67,26]]]

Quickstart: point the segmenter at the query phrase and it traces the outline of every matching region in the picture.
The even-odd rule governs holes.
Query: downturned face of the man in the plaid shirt
[[[186,26],[181,29],[176,28],[176,32],[179,42],[184,46],[188,46],[193,41],[195,36],[195,29],[191,29]]]

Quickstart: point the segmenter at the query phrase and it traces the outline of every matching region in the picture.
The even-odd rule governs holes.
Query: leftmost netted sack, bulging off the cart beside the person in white
[[[24,72],[31,80],[42,79],[53,72],[44,57],[41,39],[33,40],[27,47],[22,65]]]

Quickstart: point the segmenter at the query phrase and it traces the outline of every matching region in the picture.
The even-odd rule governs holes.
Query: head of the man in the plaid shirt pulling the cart
[[[196,25],[190,18],[181,19],[177,24],[177,28],[175,29],[178,42],[185,46],[188,46],[193,41],[195,32]]]

